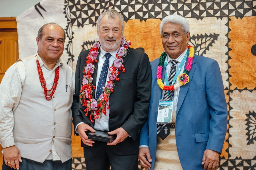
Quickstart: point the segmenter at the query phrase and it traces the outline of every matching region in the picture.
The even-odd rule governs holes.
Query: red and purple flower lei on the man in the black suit
[[[107,104],[108,98],[110,94],[113,92],[114,89],[114,81],[119,81],[119,78],[117,76],[119,75],[118,70],[122,70],[122,72],[125,72],[125,68],[123,65],[123,58],[125,55],[127,55],[129,49],[129,45],[131,45],[130,41],[126,41],[124,38],[124,35],[122,37],[121,41],[121,47],[118,49],[118,52],[116,54],[116,59],[113,61],[112,66],[109,68],[110,72],[108,74],[109,81],[105,85],[104,92],[99,96],[99,98],[96,100],[92,97],[92,89],[95,89],[95,86],[92,85],[93,78],[91,75],[94,73],[95,69],[95,62],[97,61],[97,55],[98,50],[100,48],[99,40],[97,40],[91,49],[89,50],[89,54],[86,57],[87,61],[83,70],[83,82],[81,85],[80,90],[80,102],[83,104],[83,106],[86,106],[86,109],[84,109],[85,116],[88,115],[89,111],[91,111],[90,114],[90,120],[91,122],[94,122],[93,119],[98,119],[101,117],[101,113],[104,113],[106,115],[106,107],[109,108],[109,105]]]

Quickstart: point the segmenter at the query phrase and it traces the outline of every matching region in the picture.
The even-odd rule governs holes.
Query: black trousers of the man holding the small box
[[[86,170],[138,170],[138,154],[118,155],[113,146],[95,141],[93,147],[84,147]]]

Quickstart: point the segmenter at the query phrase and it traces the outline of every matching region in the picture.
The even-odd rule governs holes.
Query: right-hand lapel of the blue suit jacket
[[[196,68],[196,61],[195,61],[195,59],[193,59],[193,64],[192,64],[192,67],[191,67],[191,69],[189,71],[189,82],[187,84],[185,84],[184,86],[180,87],[180,93],[179,93],[178,104],[177,104],[177,114],[178,114],[178,112],[179,112],[179,110],[181,108],[181,105],[182,105],[182,103],[184,101],[185,96],[187,95],[190,82],[191,82],[192,77],[193,77],[194,72],[195,72],[195,68]]]

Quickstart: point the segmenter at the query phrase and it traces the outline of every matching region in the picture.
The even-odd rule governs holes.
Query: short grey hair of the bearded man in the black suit
[[[117,12],[115,9],[108,9],[99,15],[98,20],[97,20],[98,31],[99,31],[99,27],[100,27],[100,22],[106,14],[108,15],[109,18],[116,18],[116,16],[118,16],[120,18],[121,24],[122,24],[122,33],[123,33],[124,32],[124,17],[121,13]]]

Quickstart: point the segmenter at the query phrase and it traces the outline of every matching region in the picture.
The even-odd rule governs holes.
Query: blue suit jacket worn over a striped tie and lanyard
[[[157,148],[157,110],[162,90],[157,85],[159,58],[151,62],[152,85],[148,120],[140,133],[140,145],[148,145],[154,169]],[[195,55],[189,82],[181,86],[176,114],[176,143],[184,170],[203,170],[205,149],[222,152],[227,131],[227,103],[217,61]],[[164,69],[162,72],[164,80]]]

